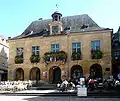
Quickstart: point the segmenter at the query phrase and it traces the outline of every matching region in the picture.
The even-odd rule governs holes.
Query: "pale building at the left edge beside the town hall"
[[[7,80],[9,47],[7,40],[0,36],[0,81]]]

